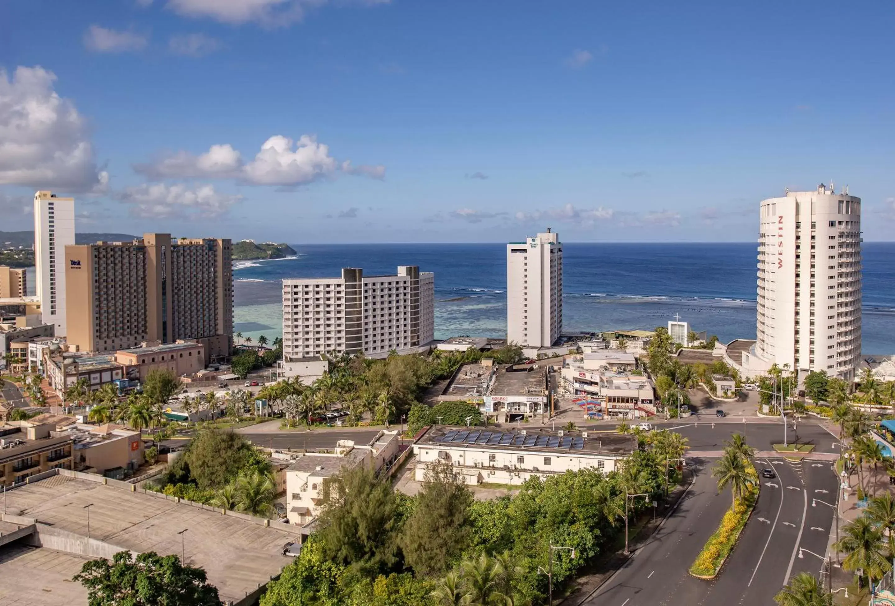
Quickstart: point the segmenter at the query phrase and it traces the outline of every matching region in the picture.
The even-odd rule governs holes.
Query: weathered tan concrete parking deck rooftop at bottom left
[[[103,478],[99,476],[87,479],[86,474],[76,475],[61,473],[8,491],[7,512],[36,518],[38,524],[85,535],[87,519],[83,508],[92,503],[91,538],[122,549],[156,551],[160,555],[180,555],[181,536],[177,533],[187,528],[183,537],[186,563],[205,569],[209,583],[217,586],[222,601],[242,600],[246,592],[251,593],[259,584],[267,583],[270,576],[277,575],[292,561],[282,555],[282,549],[286,542],[297,538],[297,527],[295,532],[282,529],[285,526],[277,522],[265,527],[242,515],[222,516],[219,509],[175,503],[164,495],[155,496],[156,493],[140,489],[132,492],[132,485],[125,482],[103,484]],[[256,518],[257,521],[260,520]],[[72,556],[63,555],[66,556],[63,564],[73,567]],[[5,551],[0,550],[0,560],[4,557]],[[4,579],[0,585],[18,588],[33,583],[30,568],[23,567],[16,572],[7,570],[6,563],[0,564],[0,575]],[[68,575],[68,571],[65,574]],[[60,585],[65,585],[65,591],[71,591],[69,584]],[[53,602],[0,600],[0,604],[4,603],[84,602],[82,599],[62,602],[56,596]]]

